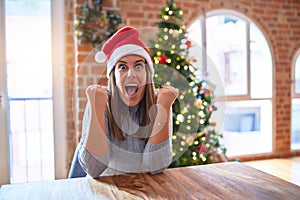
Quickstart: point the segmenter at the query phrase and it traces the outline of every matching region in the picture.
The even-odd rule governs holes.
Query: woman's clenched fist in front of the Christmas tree
[[[162,105],[164,108],[171,108],[175,99],[178,97],[178,90],[172,86],[162,86],[157,94],[157,104]]]

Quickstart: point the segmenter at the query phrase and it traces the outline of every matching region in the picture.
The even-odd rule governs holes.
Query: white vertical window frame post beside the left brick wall
[[[67,177],[67,127],[65,106],[65,1],[52,0],[53,130],[55,179]]]

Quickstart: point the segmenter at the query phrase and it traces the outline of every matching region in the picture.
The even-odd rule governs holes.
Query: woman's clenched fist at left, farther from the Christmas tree
[[[88,101],[90,102],[91,110],[101,112],[105,111],[105,107],[108,101],[108,94],[103,86],[90,85],[85,91]]]

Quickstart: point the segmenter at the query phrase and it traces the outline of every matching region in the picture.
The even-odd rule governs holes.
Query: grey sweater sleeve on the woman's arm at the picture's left
[[[84,112],[83,121],[82,121],[82,138],[79,144],[80,150],[78,154],[78,160],[83,170],[91,177],[96,178],[99,177],[108,166],[109,151],[105,156],[96,157],[92,155],[90,152],[88,152],[87,149],[83,146],[84,140],[86,139],[88,126],[89,126],[89,120],[90,120],[89,116],[90,116],[90,106],[87,105]],[[105,112],[105,120],[107,122],[107,112]]]

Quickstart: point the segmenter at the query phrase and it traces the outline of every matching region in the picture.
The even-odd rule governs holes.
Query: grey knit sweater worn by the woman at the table
[[[138,106],[130,108],[130,112],[139,112]],[[106,135],[109,151],[105,156],[96,157],[89,153],[83,142],[89,124],[90,106],[87,104],[82,123],[82,139],[79,151],[79,162],[82,168],[92,177],[122,173],[159,173],[166,169],[172,162],[172,117],[170,117],[170,137],[160,144],[145,142],[131,133],[138,129],[137,118],[132,118],[126,113],[120,113],[122,130],[125,141],[118,141],[110,131],[107,111],[105,112]],[[172,113],[171,113],[172,115]],[[135,115],[133,115],[135,116]]]

